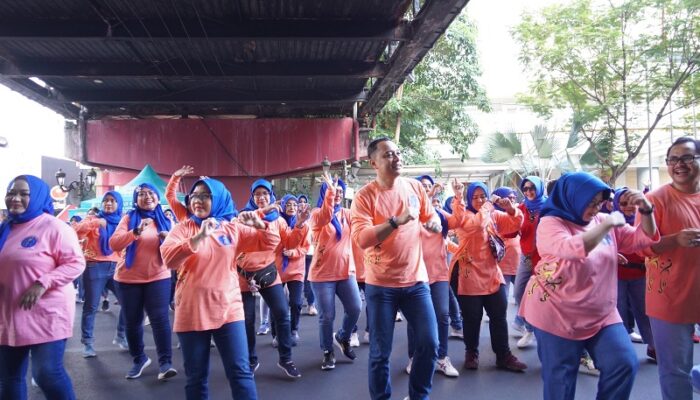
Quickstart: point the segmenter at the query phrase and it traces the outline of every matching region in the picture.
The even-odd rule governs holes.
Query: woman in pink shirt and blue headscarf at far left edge
[[[75,232],[53,216],[49,187],[22,175],[0,224],[0,398],[27,399],[27,369],[49,399],[75,399],[63,367],[73,336],[73,280],[85,269]]]

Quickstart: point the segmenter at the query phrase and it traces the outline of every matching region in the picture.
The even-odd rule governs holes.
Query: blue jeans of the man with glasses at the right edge
[[[693,389],[690,370],[693,368],[694,324],[674,324],[649,318],[654,331],[659,383],[664,400],[690,400]]]

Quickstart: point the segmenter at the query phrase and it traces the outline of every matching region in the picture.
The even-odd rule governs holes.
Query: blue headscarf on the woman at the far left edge
[[[12,184],[18,179],[27,181],[29,185],[29,205],[21,214],[9,213],[7,219],[0,224],[0,252],[15,225],[29,222],[43,213],[53,215],[53,201],[51,196],[49,196],[49,185],[36,176],[20,175],[7,185],[8,192]]]

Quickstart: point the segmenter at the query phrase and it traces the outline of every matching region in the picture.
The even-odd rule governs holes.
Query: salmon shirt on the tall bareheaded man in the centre
[[[392,216],[401,215],[410,204],[418,208],[418,219],[399,226],[379,242],[374,227],[385,224]],[[397,288],[428,282],[423,248],[418,240],[422,224],[430,221],[435,212],[425,190],[415,179],[398,177],[391,189],[382,188],[375,180],[357,192],[352,202],[350,224],[352,240],[364,249],[366,283]]]

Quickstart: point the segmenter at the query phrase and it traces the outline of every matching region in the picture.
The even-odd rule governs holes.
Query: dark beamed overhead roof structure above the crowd
[[[3,0],[0,83],[67,118],[371,116],[467,1]]]

